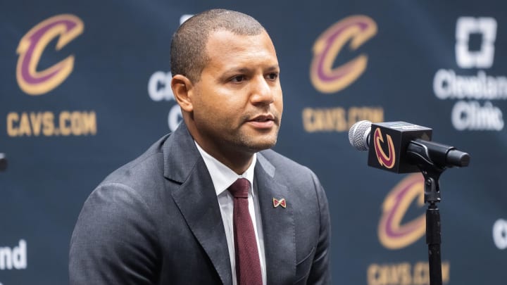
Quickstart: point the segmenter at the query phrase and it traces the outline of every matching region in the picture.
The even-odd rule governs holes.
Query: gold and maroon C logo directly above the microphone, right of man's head
[[[368,16],[353,15],[329,27],[313,44],[310,77],[315,89],[333,93],[354,82],[365,70],[368,56],[361,54],[333,68],[334,61],[346,43],[352,51],[377,33],[377,24]]]

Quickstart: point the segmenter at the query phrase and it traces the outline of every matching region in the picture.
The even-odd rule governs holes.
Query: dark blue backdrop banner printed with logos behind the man
[[[423,177],[368,167],[347,137],[358,120],[430,127],[470,153],[440,179],[443,281],[506,284],[504,1],[48,0],[0,4],[1,285],[68,284],[84,200],[180,122],[170,37],[208,8],[253,15],[273,39],[275,149],[325,186],[333,284],[430,283]]]

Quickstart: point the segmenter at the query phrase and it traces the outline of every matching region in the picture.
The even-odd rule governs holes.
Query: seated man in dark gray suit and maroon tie
[[[184,122],[84,203],[70,284],[330,284],[323,187],[269,149],[283,103],[268,33],[205,11],[174,34],[171,71]]]

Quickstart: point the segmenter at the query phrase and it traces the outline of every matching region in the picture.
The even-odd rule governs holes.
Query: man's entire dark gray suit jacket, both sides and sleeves
[[[268,284],[330,284],[330,217],[317,177],[270,150],[254,172]],[[70,284],[232,284],[213,182],[183,123],[90,194],[69,273]]]

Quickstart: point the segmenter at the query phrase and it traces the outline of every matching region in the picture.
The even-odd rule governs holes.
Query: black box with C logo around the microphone
[[[368,165],[396,173],[419,172],[408,162],[406,150],[414,139],[431,141],[432,129],[410,122],[377,122],[371,125]]]

